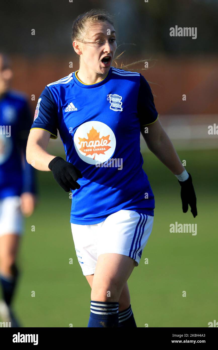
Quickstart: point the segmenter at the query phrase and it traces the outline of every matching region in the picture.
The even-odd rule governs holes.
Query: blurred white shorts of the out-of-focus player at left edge
[[[10,196],[0,199],[0,236],[8,233],[20,235],[23,232],[21,198]]]

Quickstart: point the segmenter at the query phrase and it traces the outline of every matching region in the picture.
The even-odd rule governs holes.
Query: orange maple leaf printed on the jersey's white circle
[[[87,133],[87,139],[85,137],[79,137],[79,145],[81,145],[79,150],[86,155],[94,154],[93,159],[95,159],[96,154],[105,154],[105,151],[111,148],[111,146],[108,146],[111,142],[111,140],[109,140],[110,135],[99,138],[99,134],[100,132],[97,132],[97,130],[92,127],[90,132]]]

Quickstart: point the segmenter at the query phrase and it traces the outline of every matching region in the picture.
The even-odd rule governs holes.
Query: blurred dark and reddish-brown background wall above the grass
[[[149,81],[161,122],[176,146],[217,147],[216,135],[208,135],[218,115],[217,0],[3,2],[0,50],[12,59],[13,87],[29,98],[35,95],[33,115],[44,86],[79,68],[71,27],[77,15],[91,8],[107,9],[114,17],[117,55],[125,51],[118,66],[148,61],[146,70],[143,62],[127,69],[138,69]],[[176,25],[197,27],[197,38],[170,36]]]

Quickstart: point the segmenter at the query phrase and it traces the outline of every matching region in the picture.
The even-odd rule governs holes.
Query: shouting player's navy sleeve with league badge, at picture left
[[[48,131],[51,139],[57,139],[57,105],[47,86],[38,99],[30,130],[35,128]]]

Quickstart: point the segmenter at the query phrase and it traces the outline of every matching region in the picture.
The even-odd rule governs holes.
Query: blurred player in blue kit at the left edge
[[[12,70],[0,53],[0,318],[19,324],[11,310],[17,278],[16,255],[23,216],[35,206],[35,169],[26,161],[26,144],[33,122],[26,97],[10,90]]]

